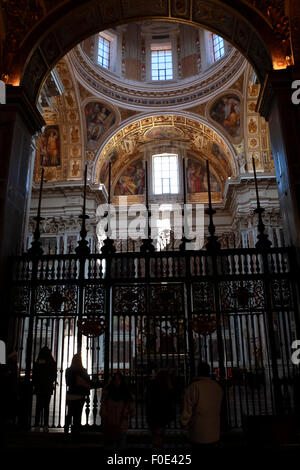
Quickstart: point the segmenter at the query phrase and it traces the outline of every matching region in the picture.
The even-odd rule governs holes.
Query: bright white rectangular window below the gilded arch
[[[154,194],[178,194],[178,155],[153,155]]]

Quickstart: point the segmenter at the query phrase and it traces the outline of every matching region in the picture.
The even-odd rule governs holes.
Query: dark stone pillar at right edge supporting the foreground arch
[[[271,72],[262,86],[258,111],[269,121],[286,240],[300,252],[300,104],[292,103],[297,77],[300,73],[293,67]]]

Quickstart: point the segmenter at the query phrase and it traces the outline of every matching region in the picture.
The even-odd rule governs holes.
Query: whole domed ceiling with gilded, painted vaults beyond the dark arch
[[[255,111],[260,85],[239,52],[225,44],[224,56],[210,63],[212,33],[176,23],[133,23],[109,33],[119,39],[114,69],[96,63],[96,35],[61,59],[45,83],[39,106],[47,126],[37,140],[34,181],[44,167],[45,188],[82,184],[87,164],[91,188],[107,189],[111,161],[112,195],[141,197],[145,156],[173,149],[187,157],[189,174],[197,168],[204,174],[209,159],[214,198],[221,201],[227,181],[251,172],[252,156],[257,171],[274,170],[268,126]],[[139,62],[143,47],[172,35],[181,65],[173,80],[151,83]],[[132,184],[134,169],[141,178]],[[189,197],[207,200],[205,185],[193,181]]]

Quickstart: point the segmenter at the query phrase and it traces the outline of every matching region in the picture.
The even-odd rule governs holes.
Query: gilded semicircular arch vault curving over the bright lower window
[[[96,182],[107,184],[109,160],[114,181],[122,168],[143,155],[145,145],[154,145],[156,149],[184,146],[196,158],[209,158],[212,167],[218,168],[222,185],[236,173],[228,145],[211,127],[184,116],[160,115],[135,121],[114,134],[101,151]]]

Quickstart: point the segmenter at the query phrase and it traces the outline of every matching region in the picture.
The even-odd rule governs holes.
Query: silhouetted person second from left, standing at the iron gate
[[[36,394],[35,427],[48,431],[49,405],[56,381],[57,366],[51,351],[44,346],[33,364],[33,393]],[[42,417],[42,422],[41,422]]]

